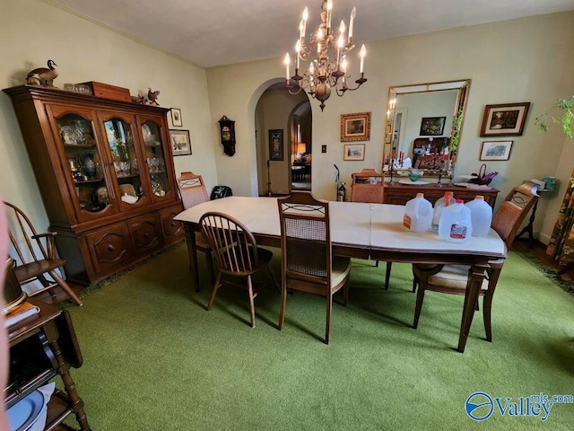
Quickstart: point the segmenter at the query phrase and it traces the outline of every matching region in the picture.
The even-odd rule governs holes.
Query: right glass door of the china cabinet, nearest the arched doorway
[[[166,154],[164,150],[161,128],[151,120],[145,121],[142,124],[142,136],[147,169],[152,184],[152,199],[173,198],[170,163],[169,161],[166,163],[166,157],[170,157],[170,154]]]

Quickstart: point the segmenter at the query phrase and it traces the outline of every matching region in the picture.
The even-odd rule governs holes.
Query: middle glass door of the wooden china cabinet
[[[117,179],[117,193],[120,207],[131,209],[135,205],[145,205],[150,199],[142,184],[141,172],[145,169],[138,147],[135,145],[134,121],[131,117],[119,116],[103,122],[111,158],[111,172]]]

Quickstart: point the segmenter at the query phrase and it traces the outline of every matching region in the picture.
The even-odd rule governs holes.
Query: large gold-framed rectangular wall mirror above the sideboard
[[[465,119],[470,79],[388,88],[383,170],[452,174]]]

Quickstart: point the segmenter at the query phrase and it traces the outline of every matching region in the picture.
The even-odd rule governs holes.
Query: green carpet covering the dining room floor
[[[274,251],[279,273],[279,252]],[[476,313],[464,354],[461,296],[428,293],[413,330],[411,268],[354,260],[348,306],[290,295],[276,330],[279,294],[268,285],[248,326],[247,293],[222,287],[213,310],[204,256],[191,289],[185,245],[135,268],[71,306],[84,364],[72,374],[91,428],[129,430],[571,429],[574,404],[543,422],[465,413],[474,391],[518,402],[574,394],[574,297],[510,253],[493,303],[493,342]],[[258,278],[265,282],[265,273]],[[66,423],[75,425],[74,421]]]

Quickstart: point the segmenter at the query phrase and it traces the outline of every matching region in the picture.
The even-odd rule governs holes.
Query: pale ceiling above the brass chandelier
[[[321,0],[48,0],[197,66],[222,66],[293,51],[309,6],[319,24]],[[354,42],[574,10],[574,0],[334,0],[333,22],[348,25],[357,7]],[[336,24],[335,24],[336,23]]]

